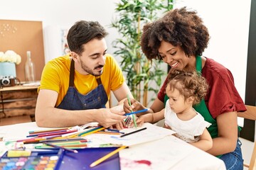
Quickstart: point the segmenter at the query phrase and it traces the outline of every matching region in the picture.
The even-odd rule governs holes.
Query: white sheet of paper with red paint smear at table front
[[[122,170],[171,169],[188,157],[194,149],[185,142],[177,140],[174,136],[166,136],[157,142],[147,142],[123,149],[119,152]]]

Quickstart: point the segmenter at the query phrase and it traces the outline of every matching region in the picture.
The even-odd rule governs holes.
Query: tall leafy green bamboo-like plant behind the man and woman
[[[159,14],[173,7],[172,0],[120,0],[115,8],[118,18],[112,21],[121,38],[114,40],[113,47],[117,49],[114,55],[122,57],[121,67],[127,74],[127,85],[134,98],[148,104],[148,92],[159,91],[161,77],[166,70],[161,69],[161,61],[149,62],[140,47],[143,26],[158,18]],[[149,87],[149,84],[156,87]],[[151,98],[154,100],[154,98]]]

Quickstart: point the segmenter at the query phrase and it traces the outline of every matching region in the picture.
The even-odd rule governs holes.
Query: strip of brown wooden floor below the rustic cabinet
[[[28,122],[32,122],[31,117],[29,115],[14,116],[11,118],[0,118],[0,126]]]

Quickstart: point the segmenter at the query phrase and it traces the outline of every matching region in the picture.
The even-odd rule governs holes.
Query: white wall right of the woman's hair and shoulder
[[[206,57],[230,69],[240,96],[245,98],[250,0],[181,0],[175,7],[188,6],[198,11],[210,32]]]

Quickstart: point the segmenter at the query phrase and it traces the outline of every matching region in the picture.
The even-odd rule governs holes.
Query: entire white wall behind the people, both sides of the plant
[[[108,52],[112,53],[114,50],[111,42],[117,38],[118,33],[108,26],[115,15],[116,1],[1,0],[0,19],[43,21],[43,28],[50,26],[70,28],[79,20],[99,21],[110,33],[107,37],[107,45]],[[235,86],[244,99],[250,0],[179,0],[175,3],[175,7],[188,6],[198,11],[211,36],[208,49],[203,55],[220,62],[233,72]],[[47,58],[58,57],[50,55],[47,48],[49,47],[45,45]],[[247,145],[245,141],[242,146],[250,146],[250,143]]]

